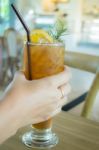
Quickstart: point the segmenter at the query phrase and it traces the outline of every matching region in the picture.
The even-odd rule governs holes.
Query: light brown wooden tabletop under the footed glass
[[[53,126],[60,141],[52,150],[99,150],[99,123],[62,112]],[[29,150],[21,142],[21,135],[27,130],[30,128],[20,129],[0,150]]]

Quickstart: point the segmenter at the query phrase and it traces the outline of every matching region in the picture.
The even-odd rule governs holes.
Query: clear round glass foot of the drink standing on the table
[[[58,143],[59,139],[55,133],[48,130],[34,130],[22,136],[22,142],[30,148],[46,149],[52,148]]]

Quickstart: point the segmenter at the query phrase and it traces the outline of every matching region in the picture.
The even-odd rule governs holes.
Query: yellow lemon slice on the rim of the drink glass
[[[53,43],[53,38],[44,30],[33,30],[30,35],[31,42]]]

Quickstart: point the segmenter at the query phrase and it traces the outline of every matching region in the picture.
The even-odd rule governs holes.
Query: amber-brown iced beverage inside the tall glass
[[[29,44],[31,59],[31,75],[32,79],[40,79],[43,77],[57,74],[64,70],[64,45],[57,44]],[[29,79],[27,46],[24,49],[24,73]],[[45,122],[34,124],[36,129],[51,128],[52,119]]]

